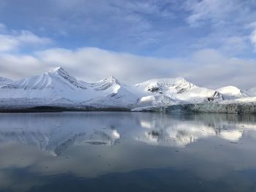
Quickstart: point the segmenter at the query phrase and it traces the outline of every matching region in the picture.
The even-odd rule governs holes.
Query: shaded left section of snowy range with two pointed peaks
[[[3,104],[31,106],[51,105],[65,107],[127,107],[135,104],[137,97],[124,88],[115,77],[95,83],[76,80],[58,67],[41,75],[28,77],[1,86],[0,101]]]

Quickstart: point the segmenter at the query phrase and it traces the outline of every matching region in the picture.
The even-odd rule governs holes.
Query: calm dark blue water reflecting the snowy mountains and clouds
[[[256,191],[256,116],[0,114],[0,191]]]

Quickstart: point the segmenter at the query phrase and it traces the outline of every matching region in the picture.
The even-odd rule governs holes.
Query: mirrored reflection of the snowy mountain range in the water
[[[37,146],[55,155],[69,145],[112,146],[127,138],[148,145],[185,147],[213,136],[237,142],[244,131],[256,130],[255,120],[254,116],[139,112],[0,115],[0,143]]]

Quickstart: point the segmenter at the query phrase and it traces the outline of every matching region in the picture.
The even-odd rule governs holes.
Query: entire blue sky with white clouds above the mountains
[[[0,0],[0,76],[256,87],[256,0]]]

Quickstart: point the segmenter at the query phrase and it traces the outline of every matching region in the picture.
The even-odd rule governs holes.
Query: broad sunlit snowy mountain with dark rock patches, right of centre
[[[222,100],[217,91],[197,87],[183,77],[148,80],[135,85],[132,91],[140,96],[140,106]]]

